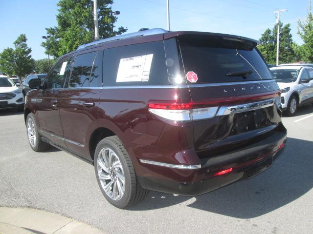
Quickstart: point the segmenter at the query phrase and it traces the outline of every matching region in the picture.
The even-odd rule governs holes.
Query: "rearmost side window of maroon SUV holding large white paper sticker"
[[[104,51],[104,85],[168,85],[163,41]]]

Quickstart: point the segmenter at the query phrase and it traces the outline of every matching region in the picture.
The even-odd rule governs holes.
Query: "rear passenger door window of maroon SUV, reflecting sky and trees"
[[[96,55],[97,52],[90,52],[76,57],[68,87],[89,87],[90,74]]]

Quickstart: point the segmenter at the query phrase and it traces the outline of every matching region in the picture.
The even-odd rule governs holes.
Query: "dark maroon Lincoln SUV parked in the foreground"
[[[151,29],[64,55],[29,82],[31,148],[94,165],[103,195],[127,208],[149,190],[201,195],[254,176],[286,142],[280,90],[238,36]]]

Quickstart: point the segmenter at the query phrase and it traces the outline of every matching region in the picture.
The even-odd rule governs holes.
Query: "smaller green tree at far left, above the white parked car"
[[[29,74],[35,67],[31,58],[31,48],[26,44],[25,34],[21,34],[14,41],[15,50],[6,48],[0,53],[0,70],[7,75],[17,75],[19,78]]]

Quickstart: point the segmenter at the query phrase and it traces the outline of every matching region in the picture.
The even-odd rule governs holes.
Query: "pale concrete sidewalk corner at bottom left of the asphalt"
[[[29,208],[0,207],[0,234],[103,234],[62,215]]]

